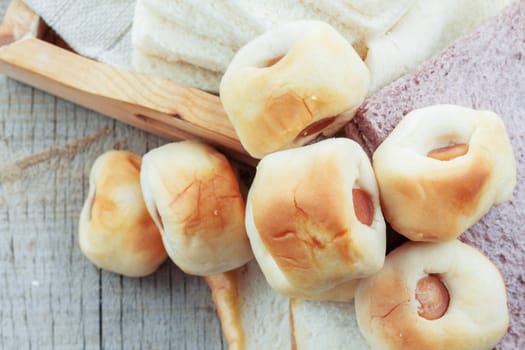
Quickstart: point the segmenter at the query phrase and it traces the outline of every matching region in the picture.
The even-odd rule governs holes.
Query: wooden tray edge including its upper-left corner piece
[[[257,164],[257,160],[250,157],[240,144],[217,96],[160,78],[121,72],[74,52],[66,53],[64,48],[72,51],[23,1],[13,0],[10,3],[0,24],[0,71],[7,76],[168,140],[201,139],[218,147],[232,159],[249,166]],[[36,52],[48,55],[46,62],[39,65]],[[102,75],[109,76],[117,71],[117,75],[127,77],[128,82],[131,81],[137,88],[146,80],[145,85],[153,88],[151,95],[159,94],[161,97],[147,96],[145,99],[137,98],[138,101],[127,99],[126,94],[104,88],[99,90],[89,81],[84,89],[82,81],[77,83],[67,74],[60,75],[59,69],[49,70],[47,61],[55,60],[62,65],[69,60],[77,64],[77,68],[101,71]],[[140,84],[135,84],[135,80]],[[133,93],[130,95],[133,97]],[[144,96],[145,90],[138,91],[136,95]],[[185,103],[188,99],[196,103]]]

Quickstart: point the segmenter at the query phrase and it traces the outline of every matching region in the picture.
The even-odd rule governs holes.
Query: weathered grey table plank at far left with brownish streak
[[[104,133],[79,142],[75,126],[57,118],[74,110],[0,77],[3,349],[98,347],[99,272],[82,258],[75,234],[84,174],[70,169],[85,168],[75,151]]]

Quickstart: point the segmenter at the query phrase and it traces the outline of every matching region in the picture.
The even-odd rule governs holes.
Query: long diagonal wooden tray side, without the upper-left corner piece
[[[35,38],[0,47],[0,72],[171,140],[200,138],[255,164],[217,96],[81,57]]]

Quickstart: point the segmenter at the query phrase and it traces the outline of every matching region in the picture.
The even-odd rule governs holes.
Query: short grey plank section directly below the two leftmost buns
[[[102,286],[103,348],[223,349],[202,278],[168,262],[142,279],[104,275]]]

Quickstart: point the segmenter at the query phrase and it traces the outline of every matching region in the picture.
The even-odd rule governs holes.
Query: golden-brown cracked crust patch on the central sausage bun
[[[349,203],[341,195],[345,179],[337,160],[319,157],[314,168],[280,171],[286,178],[267,174],[273,188],[260,191],[252,202],[255,225],[277,264],[308,281],[316,279],[317,258],[354,260],[345,215]]]

